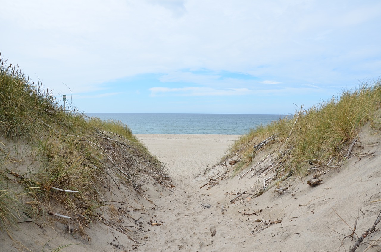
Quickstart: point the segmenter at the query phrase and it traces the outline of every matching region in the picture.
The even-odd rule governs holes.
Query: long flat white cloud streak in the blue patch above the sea
[[[214,89],[207,87],[186,87],[186,88],[165,88],[155,87],[150,88],[151,96],[237,96],[250,94],[253,91],[247,88],[229,88],[229,89]]]

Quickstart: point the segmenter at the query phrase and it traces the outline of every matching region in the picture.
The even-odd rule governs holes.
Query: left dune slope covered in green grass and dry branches
[[[128,126],[65,112],[41,83],[0,59],[0,229],[61,214],[88,239],[90,223],[120,219],[113,190],[128,204],[152,183],[170,185],[166,168]]]

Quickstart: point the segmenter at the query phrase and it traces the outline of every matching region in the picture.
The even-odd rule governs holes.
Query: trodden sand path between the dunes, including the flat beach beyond
[[[235,236],[242,234],[243,228],[248,230],[247,224],[238,222],[234,214],[222,215],[221,205],[205,188],[199,188],[200,180],[195,178],[204,166],[216,163],[237,136],[138,137],[168,164],[176,185],[173,195],[155,200],[158,211],[154,220],[163,225],[149,231],[146,244],[138,251],[244,250],[245,242],[235,241]]]

